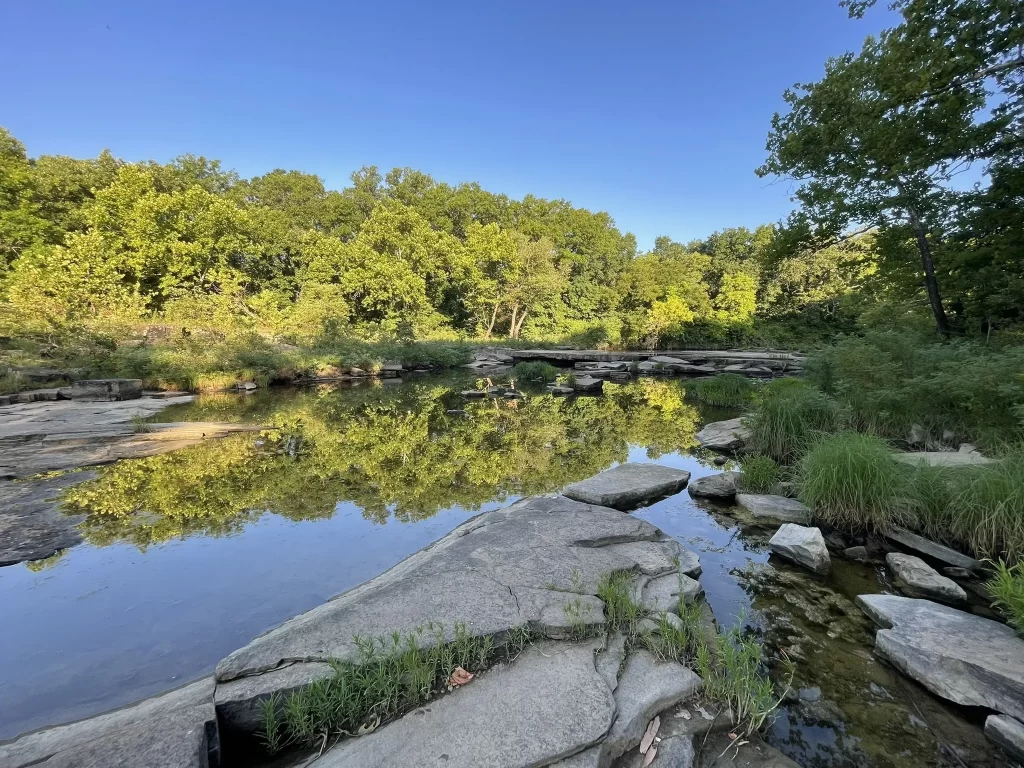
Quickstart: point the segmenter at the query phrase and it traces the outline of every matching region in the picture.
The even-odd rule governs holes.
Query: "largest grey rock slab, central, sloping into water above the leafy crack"
[[[247,727],[259,702],[290,689],[308,665],[356,660],[352,638],[409,633],[443,622],[445,641],[463,623],[473,635],[501,637],[529,626],[566,637],[570,603],[586,624],[603,622],[596,597],[613,570],[655,578],[699,569],[695,555],[650,523],[564,497],[526,499],[468,520],[376,579],[285,622],[217,666],[217,700]],[[421,646],[434,642],[421,637]],[[222,715],[225,713],[222,712]]]

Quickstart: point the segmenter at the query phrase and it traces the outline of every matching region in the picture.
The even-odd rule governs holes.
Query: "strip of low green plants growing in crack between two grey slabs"
[[[334,660],[333,674],[262,702],[262,738],[273,753],[290,745],[326,749],[332,738],[366,733],[450,689],[457,668],[480,672],[515,658],[532,640],[515,627],[498,638],[431,622],[409,633],[353,637],[355,660]]]

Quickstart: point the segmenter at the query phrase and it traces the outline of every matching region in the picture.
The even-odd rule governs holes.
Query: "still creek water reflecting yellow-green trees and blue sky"
[[[285,618],[371,579],[479,512],[557,490],[616,462],[719,471],[696,450],[734,413],[685,382],[606,384],[467,401],[473,379],[215,395],[160,421],[273,427],[125,461],[71,489],[86,543],[0,568],[0,739],[87,717],[210,673]],[[720,624],[764,638],[794,693],[768,739],[804,766],[999,765],[974,713],[871,654],[852,600],[886,589],[839,562],[827,582],[772,559],[771,528],[685,492],[635,513],[700,554]]]

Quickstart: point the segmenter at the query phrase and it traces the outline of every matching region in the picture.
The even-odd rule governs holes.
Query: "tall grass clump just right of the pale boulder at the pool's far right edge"
[[[810,443],[842,426],[843,411],[807,386],[765,387],[750,419],[751,447],[780,464],[795,463]]]

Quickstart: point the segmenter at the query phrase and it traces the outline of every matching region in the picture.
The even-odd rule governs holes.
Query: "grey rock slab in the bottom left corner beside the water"
[[[213,678],[0,743],[4,768],[207,768],[219,755]],[[214,760],[211,761],[210,758]]]

